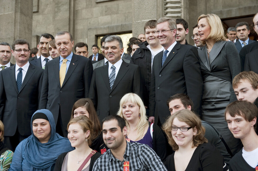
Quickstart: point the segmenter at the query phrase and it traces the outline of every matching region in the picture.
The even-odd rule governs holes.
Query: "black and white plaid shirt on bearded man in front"
[[[124,161],[129,161],[129,170],[165,170],[165,165],[161,162],[157,154],[149,146],[140,143],[129,143],[127,142]],[[98,170],[124,170],[124,161],[116,159],[110,149],[102,154],[94,163],[93,171]]]

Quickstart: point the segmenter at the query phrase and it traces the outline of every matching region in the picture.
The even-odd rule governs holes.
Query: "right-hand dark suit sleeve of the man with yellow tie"
[[[90,82],[93,73],[93,66],[90,60],[87,60],[87,63],[84,68],[84,91],[85,91],[85,98],[89,97],[89,88]]]

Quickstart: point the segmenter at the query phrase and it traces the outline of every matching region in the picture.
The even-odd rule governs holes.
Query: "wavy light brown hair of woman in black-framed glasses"
[[[178,150],[179,148],[171,134],[172,123],[175,118],[177,118],[181,122],[185,122],[187,125],[192,127],[192,129],[197,130],[197,134],[193,136],[193,147],[208,142],[208,140],[204,137],[205,128],[202,126],[201,119],[190,110],[180,110],[175,114],[169,116],[169,118],[165,121],[164,125],[162,126],[162,129],[165,131],[168,137],[168,143],[174,151]]]

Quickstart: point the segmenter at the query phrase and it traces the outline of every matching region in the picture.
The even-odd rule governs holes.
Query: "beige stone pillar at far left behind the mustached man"
[[[31,44],[33,0],[1,0],[0,6],[0,41],[12,45],[16,39],[26,39]]]

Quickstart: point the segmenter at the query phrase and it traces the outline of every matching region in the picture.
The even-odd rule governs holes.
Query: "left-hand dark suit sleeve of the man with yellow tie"
[[[42,88],[41,88],[39,107],[38,107],[39,109],[46,109],[47,97],[48,97],[48,69],[47,69],[47,63],[46,63],[43,79],[42,79]]]

